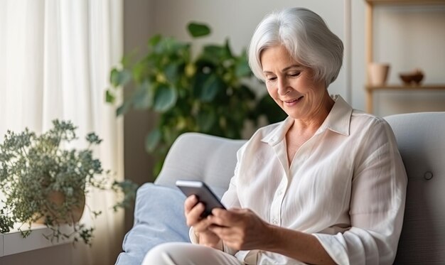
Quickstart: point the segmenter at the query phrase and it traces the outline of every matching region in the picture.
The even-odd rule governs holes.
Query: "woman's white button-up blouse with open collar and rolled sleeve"
[[[225,206],[313,234],[337,264],[392,264],[407,175],[390,126],[337,96],[289,166],[285,135],[293,122],[264,126],[240,148]],[[301,264],[272,252],[225,252],[247,264]]]

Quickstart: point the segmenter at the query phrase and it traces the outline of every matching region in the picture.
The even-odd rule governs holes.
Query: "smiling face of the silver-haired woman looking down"
[[[326,107],[326,88],[313,80],[313,71],[289,55],[282,45],[263,50],[261,64],[267,92],[294,119],[317,117]]]

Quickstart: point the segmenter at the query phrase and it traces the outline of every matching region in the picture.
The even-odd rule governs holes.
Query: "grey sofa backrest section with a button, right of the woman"
[[[385,117],[408,175],[395,264],[445,263],[445,112]]]

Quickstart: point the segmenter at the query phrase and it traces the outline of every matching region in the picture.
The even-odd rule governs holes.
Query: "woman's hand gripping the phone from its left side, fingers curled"
[[[220,238],[208,229],[212,223],[208,218],[201,217],[204,208],[203,202],[199,202],[195,195],[188,196],[184,202],[187,225],[193,227],[193,232],[199,237],[199,244],[220,249]]]

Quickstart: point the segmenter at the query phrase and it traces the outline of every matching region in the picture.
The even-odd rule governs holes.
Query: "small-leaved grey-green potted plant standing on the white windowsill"
[[[8,131],[0,144],[0,232],[9,232],[14,224],[26,237],[31,224],[40,222],[49,227],[50,240],[82,239],[91,244],[94,228],[80,223],[85,195],[92,188],[114,190],[123,194],[117,207],[130,205],[136,185],[125,180],[109,181],[100,160],[93,157],[92,147],[102,141],[95,133],[86,136],[89,146],[77,150],[64,148],[76,139],[77,127],[70,121],[53,121],[53,128],[41,135],[25,129]],[[122,193],[123,192],[123,193]],[[88,208],[89,209],[89,208]],[[101,211],[92,211],[97,217]],[[27,229],[22,229],[23,225]],[[61,227],[68,225],[70,232]]]

